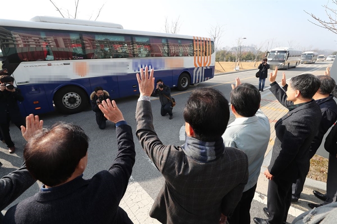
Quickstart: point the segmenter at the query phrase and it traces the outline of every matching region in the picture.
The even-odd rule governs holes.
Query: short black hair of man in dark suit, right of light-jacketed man
[[[299,90],[301,96],[306,99],[312,99],[320,86],[321,81],[312,74],[302,74],[290,79],[290,87]]]

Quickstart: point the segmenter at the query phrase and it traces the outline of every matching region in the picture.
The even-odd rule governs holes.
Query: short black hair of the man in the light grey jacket
[[[252,117],[260,108],[260,91],[249,83],[242,83],[230,92],[230,103],[243,117]]]

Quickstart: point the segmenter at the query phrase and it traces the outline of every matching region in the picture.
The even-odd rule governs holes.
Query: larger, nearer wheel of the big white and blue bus
[[[87,102],[87,93],[76,86],[63,87],[54,96],[54,104],[57,110],[63,114],[81,112],[86,107]]]

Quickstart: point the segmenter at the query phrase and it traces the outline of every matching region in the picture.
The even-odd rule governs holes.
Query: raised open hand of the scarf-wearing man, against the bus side
[[[149,76],[149,68],[145,67],[144,70],[140,69],[140,75],[137,73],[137,81],[139,86],[140,95],[151,96],[154,88],[155,88],[155,78],[153,77],[154,70],[151,69]]]

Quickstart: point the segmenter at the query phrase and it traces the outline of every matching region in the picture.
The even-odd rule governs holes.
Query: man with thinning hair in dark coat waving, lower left
[[[38,131],[23,157],[43,185],[6,212],[5,224],[132,224],[119,207],[135,163],[132,130],[114,101],[107,99],[99,107],[116,124],[118,149],[108,169],[83,179],[89,138],[80,127],[61,123]]]

